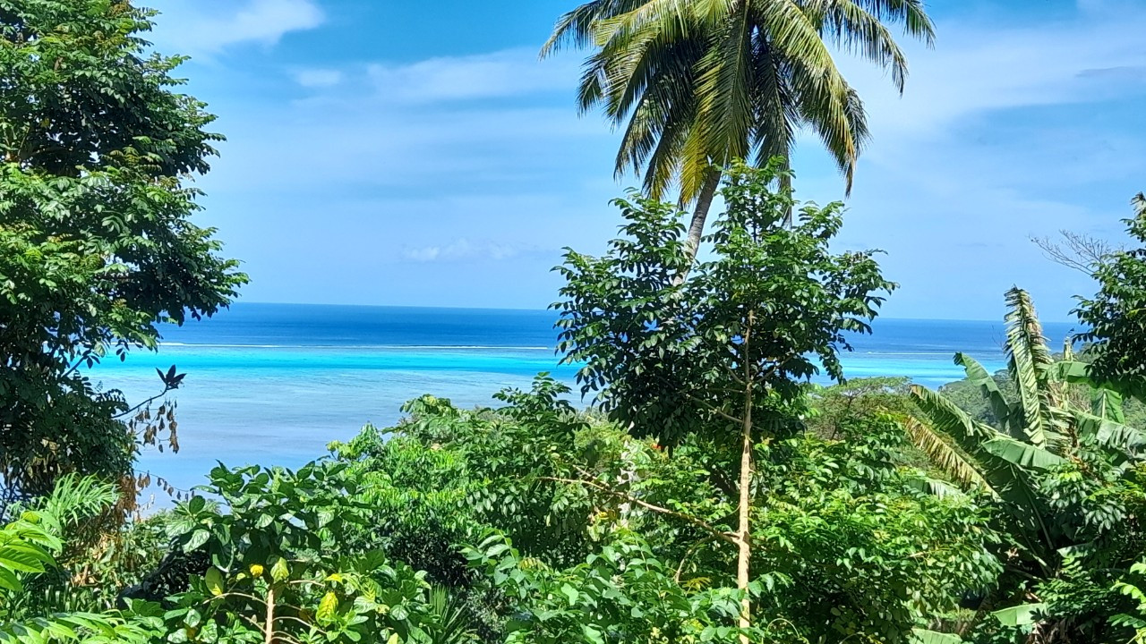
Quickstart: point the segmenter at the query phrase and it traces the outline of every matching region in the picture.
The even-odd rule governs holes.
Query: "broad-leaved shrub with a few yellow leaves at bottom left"
[[[372,511],[347,468],[212,470],[199,490],[220,503],[195,496],[170,520],[167,564],[189,561],[178,566],[189,582],[157,571],[133,590],[133,613],[152,616],[149,600],[164,602],[163,630],[181,642],[468,641],[464,622],[431,604],[425,573],[342,542]]]

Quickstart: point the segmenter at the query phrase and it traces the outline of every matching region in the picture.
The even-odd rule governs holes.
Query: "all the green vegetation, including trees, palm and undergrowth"
[[[722,181],[725,205],[698,237],[707,203],[634,193],[602,257],[567,251],[554,308],[581,391],[424,395],[298,470],[220,464],[128,519],[172,407],[80,367],[244,281],[189,220],[217,135],[171,89],[179,58],[146,55],[149,16],[0,0],[0,642],[1146,642],[1146,251],[1091,266],[1077,354],[1013,289],[1005,370],[960,353],[937,392],[843,378],[895,284],[876,252],[833,252],[842,206],[795,199],[775,134],[811,124],[849,168],[862,109],[822,46],[902,79],[880,21],[929,37],[911,0],[576,9],[556,39],[601,49],[587,105],[636,107],[622,157],[654,194]]]

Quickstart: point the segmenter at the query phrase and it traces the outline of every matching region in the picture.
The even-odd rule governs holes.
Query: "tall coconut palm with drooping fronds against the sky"
[[[889,70],[902,92],[906,58],[885,23],[934,40],[923,0],[591,0],[557,22],[541,55],[595,49],[579,107],[628,121],[619,174],[631,166],[654,198],[676,183],[682,207],[696,204],[696,254],[722,168],[787,162],[801,127],[819,135],[850,193],[868,125],[831,48]]]

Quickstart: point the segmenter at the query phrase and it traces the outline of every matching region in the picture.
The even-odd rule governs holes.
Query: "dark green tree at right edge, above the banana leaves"
[[[1139,193],[1132,205],[1127,231],[1138,248],[1093,267],[1099,290],[1081,299],[1075,314],[1089,329],[1080,338],[1097,345],[1091,374],[1146,399],[1146,196]]]

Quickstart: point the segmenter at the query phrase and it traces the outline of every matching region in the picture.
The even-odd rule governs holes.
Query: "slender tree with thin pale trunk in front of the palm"
[[[842,378],[845,331],[870,331],[878,293],[894,288],[871,252],[829,251],[841,204],[804,205],[794,227],[784,225],[795,201],[791,189],[774,188],[783,166],[733,165],[723,189],[728,212],[709,237],[715,259],[684,280],[692,251],[682,213],[646,197],[618,199],[623,236],[601,258],[566,252],[558,268],[565,299],[555,305],[558,351],[582,364],[582,394],[668,449],[699,437],[728,456],[735,527],[675,515],[737,549],[741,639],[752,618],[753,498],[763,492],[753,461],[794,421],[801,380],[821,368]]]

